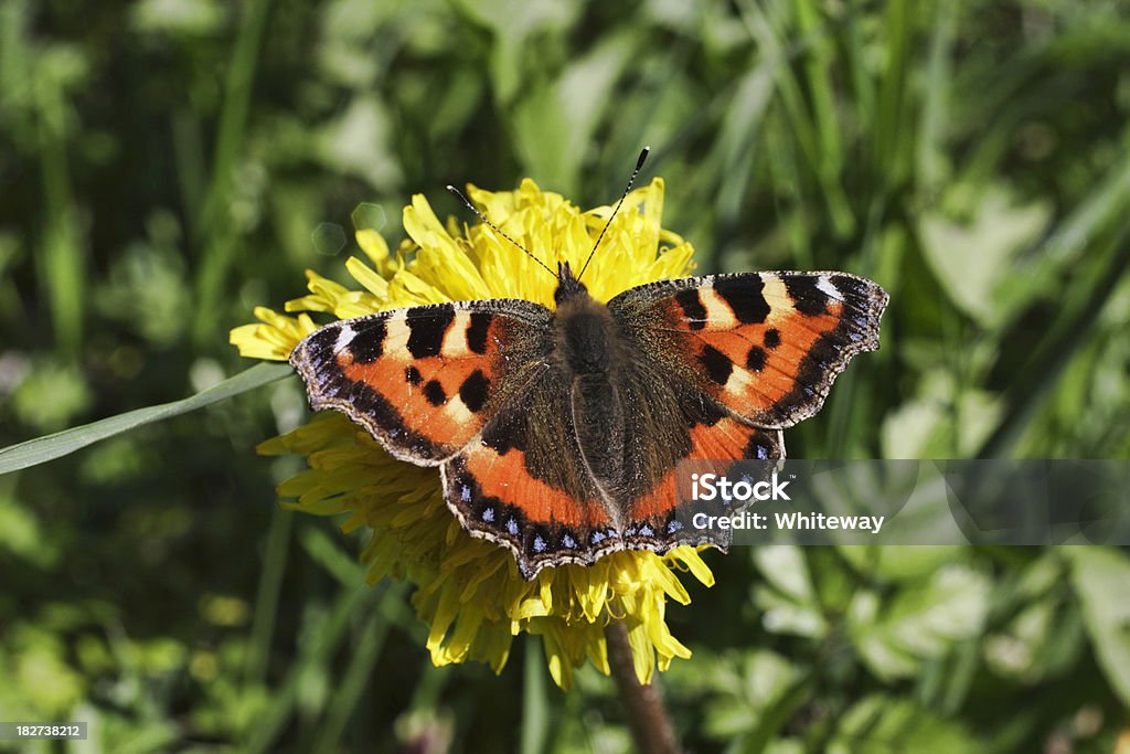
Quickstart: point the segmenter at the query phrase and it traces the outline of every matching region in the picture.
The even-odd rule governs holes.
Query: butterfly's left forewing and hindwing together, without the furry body
[[[548,367],[550,318],[520,300],[394,310],[321,328],[290,363],[313,408],[344,411],[399,459],[442,466],[460,523],[532,578],[550,560],[623,547],[594,482],[568,462],[580,451],[568,380]]]

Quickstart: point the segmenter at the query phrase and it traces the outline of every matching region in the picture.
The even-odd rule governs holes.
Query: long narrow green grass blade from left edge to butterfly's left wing
[[[276,380],[281,380],[293,373],[293,370],[286,364],[259,364],[218,384],[214,384],[207,390],[201,390],[191,398],[174,400],[168,404],[160,404],[159,406],[149,406],[148,408],[139,408],[79,427],[63,430],[62,432],[55,432],[54,434],[10,445],[0,450],[0,474],[18,471],[29,466],[53,461],[99,440],[113,437],[116,434],[136,430],[146,424],[188,414],[205,406],[218,404],[233,396],[261,388]]]

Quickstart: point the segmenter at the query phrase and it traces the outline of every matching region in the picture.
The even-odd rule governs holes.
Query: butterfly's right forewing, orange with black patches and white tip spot
[[[887,294],[845,272],[747,272],[664,280],[608,306],[672,374],[759,427],[824,404],[852,356],[879,346]]]

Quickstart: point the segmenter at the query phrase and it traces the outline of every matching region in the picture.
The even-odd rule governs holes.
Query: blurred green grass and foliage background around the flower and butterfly
[[[605,203],[650,144],[701,271],[892,294],[791,454],[1125,458],[1128,59],[1111,0],[0,0],[0,444],[245,369],[227,330],[341,278],[351,225],[398,241],[415,192]],[[432,668],[402,590],[276,508],[295,461],[254,445],[303,406],[286,380],[0,477],[0,719],[114,752],[627,747],[607,678],[562,694],[527,643]],[[1128,745],[1123,551],[709,562],[661,679],[695,751]]]

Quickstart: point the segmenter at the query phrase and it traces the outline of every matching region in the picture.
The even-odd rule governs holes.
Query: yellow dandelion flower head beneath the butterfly
[[[541,191],[531,180],[516,191],[469,187],[475,203],[498,227],[551,269],[568,262],[580,269],[608,224],[610,207],[581,211],[562,196]],[[585,276],[598,301],[659,279],[684,277],[693,249],[661,226],[663,182],[627,194],[608,224],[605,240]],[[484,224],[446,225],[423,196],[405,208],[410,242],[395,253],[379,233],[357,233],[367,258],[346,263],[360,289],[353,291],[307,271],[310,294],[290,301],[284,315],[257,309],[260,323],[232,330],[240,353],[286,359],[315,328],[307,312],[339,319],[374,312],[478,298],[527,298],[554,306],[556,279]],[[366,527],[372,538],[363,557],[371,582],[389,577],[416,587],[412,605],[429,626],[427,649],[435,665],[483,660],[499,671],[513,638],[542,638],[549,671],[567,688],[586,660],[609,673],[606,627],[621,619],[627,629],[635,673],[647,683],[690,652],[668,630],[668,599],[688,604],[680,577],[706,586],[713,574],[694,547],[664,555],[616,552],[591,566],[546,567],[530,580],[514,556],[496,544],[471,537],[443,500],[440,474],[394,460],[362,427],[336,411],[263,443],[263,453],[299,453],[308,468],[279,487],[288,505],[320,515],[348,513],[344,529]]]

